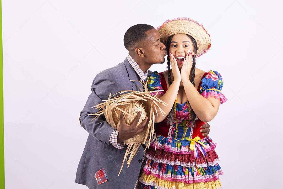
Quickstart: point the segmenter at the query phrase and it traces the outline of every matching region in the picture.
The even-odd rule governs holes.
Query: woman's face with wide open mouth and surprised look
[[[173,35],[169,52],[176,58],[179,69],[182,68],[183,61],[188,53],[193,52],[193,55],[195,55],[192,41],[184,33],[177,33]]]

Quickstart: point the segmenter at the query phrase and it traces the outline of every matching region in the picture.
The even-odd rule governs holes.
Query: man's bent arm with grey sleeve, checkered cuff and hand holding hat
[[[114,145],[116,142],[121,143],[126,139],[134,137],[137,133],[143,131],[145,124],[147,122],[147,118],[140,124],[137,125],[140,114],[136,117],[132,125],[128,125],[125,123],[124,117],[121,116],[121,123],[119,126],[119,133],[118,135],[114,134],[114,128],[110,126],[104,117],[104,115],[99,116],[95,120],[91,121],[95,116],[90,116],[88,114],[95,114],[98,112],[98,109],[91,108],[94,105],[97,105],[102,102],[102,100],[106,100],[109,97],[110,92],[112,95],[120,92],[119,83],[115,78],[114,73],[109,70],[105,70],[99,73],[95,79],[93,80],[91,91],[92,93],[89,95],[89,98],[81,112],[80,121],[82,127],[93,137],[96,139],[107,143],[108,145],[113,145],[116,148],[123,148],[122,145]],[[110,143],[111,137],[111,143]],[[113,137],[114,139],[113,144]]]

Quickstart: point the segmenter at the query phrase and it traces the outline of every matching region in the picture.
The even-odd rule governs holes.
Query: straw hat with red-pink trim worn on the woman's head
[[[162,26],[156,29],[160,35],[160,41],[165,45],[167,39],[176,33],[185,33],[192,36],[198,45],[196,57],[206,53],[211,46],[210,35],[201,24],[190,18],[166,20]]]

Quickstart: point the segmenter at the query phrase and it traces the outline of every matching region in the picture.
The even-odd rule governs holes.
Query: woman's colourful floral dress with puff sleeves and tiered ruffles
[[[222,86],[222,76],[209,71],[203,75],[198,90],[204,97],[220,98],[222,104],[227,100],[221,93]],[[148,89],[167,90],[163,73],[153,72],[149,76]],[[221,188],[219,175],[223,172],[214,150],[217,144],[201,135],[204,122],[196,119],[196,126],[192,126],[188,101],[183,104],[175,101],[173,116],[173,125],[166,124],[167,117],[156,125],[157,141],[151,141],[145,154],[145,167],[139,179],[141,189]]]

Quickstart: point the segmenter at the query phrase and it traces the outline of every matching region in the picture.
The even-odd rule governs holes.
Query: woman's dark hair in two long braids
[[[174,34],[175,35],[175,34]],[[193,47],[194,47],[194,53],[197,54],[197,51],[198,51],[198,46],[196,44],[196,40],[186,34],[192,41],[192,44],[193,44]],[[170,48],[170,43],[171,43],[171,40],[172,40],[172,37],[173,35],[171,35],[168,40],[167,40],[167,43],[166,43],[166,51],[167,51],[167,69],[168,69],[168,84],[169,86],[172,84],[172,81],[171,81],[171,70],[170,70],[170,58],[169,58],[169,48]],[[191,76],[191,80],[190,82],[192,82],[192,84],[195,86],[195,83],[194,83],[194,78],[195,78],[195,69],[196,69],[196,55],[193,56],[192,58],[192,76]],[[173,113],[174,113],[174,106],[172,107],[171,111],[169,112],[168,114],[168,120],[167,120],[167,124],[168,125],[171,125],[173,124]],[[195,126],[196,125],[196,114],[194,113],[193,109],[191,111],[191,120],[192,120],[192,124]]]

